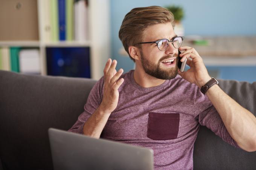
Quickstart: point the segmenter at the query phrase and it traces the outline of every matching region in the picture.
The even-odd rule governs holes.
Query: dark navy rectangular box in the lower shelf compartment
[[[47,47],[46,56],[48,75],[91,78],[88,47]]]

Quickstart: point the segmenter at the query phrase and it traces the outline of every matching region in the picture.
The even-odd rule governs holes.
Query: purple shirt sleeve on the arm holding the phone
[[[196,102],[202,106],[201,113],[199,113],[197,116],[199,124],[212,130],[213,133],[221,137],[222,140],[229,143],[230,145],[240,148],[235,140],[230,136],[219,113],[208,99],[208,97],[198,91]]]

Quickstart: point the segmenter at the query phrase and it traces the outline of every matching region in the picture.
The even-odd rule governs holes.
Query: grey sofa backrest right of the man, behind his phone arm
[[[219,80],[219,86],[256,116],[256,82]],[[255,132],[256,133],[256,132]],[[246,152],[224,142],[201,126],[194,146],[194,169],[256,169],[256,152]]]

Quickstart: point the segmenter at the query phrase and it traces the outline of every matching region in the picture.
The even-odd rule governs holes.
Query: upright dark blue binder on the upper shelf
[[[65,0],[58,0],[59,12],[59,40],[66,40],[66,4]]]

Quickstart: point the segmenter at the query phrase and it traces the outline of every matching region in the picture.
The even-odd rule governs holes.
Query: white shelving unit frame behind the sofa
[[[37,0],[38,4],[39,1]],[[39,41],[0,41],[1,47],[32,47],[40,49],[41,75],[47,75],[47,47],[90,47],[91,78],[100,79],[103,76],[105,62],[110,58],[110,10],[109,0],[88,0],[89,37],[85,42],[44,42],[42,38],[41,13],[38,10]]]

